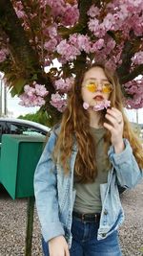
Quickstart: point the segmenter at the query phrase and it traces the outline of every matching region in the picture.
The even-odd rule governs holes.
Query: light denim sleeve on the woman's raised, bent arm
[[[115,153],[111,146],[108,154],[116,172],[118,185],[131,189],[143,177],[143,170],[139,168],[127,139],[124,139],[124,145],[125,150],[120,153]]]

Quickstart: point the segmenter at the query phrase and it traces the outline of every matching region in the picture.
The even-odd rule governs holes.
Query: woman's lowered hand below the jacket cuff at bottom
[[[49,241],[50,256],[70,256],[69,247],[63,236],[52,238]]]

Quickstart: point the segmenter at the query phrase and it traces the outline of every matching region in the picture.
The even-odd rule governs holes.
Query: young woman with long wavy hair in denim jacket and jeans
[[[35,171],[44,255],[122,255],[118,188],[133,188],[142,168],[142,147],[124,114],[118,79],[94,64],[74,82]]]

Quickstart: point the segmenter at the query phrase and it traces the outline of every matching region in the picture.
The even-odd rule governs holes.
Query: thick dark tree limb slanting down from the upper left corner
[[[25,70],[27,76],[37,69],[40,72],[38,58],[31,48],[10,0],[0,0],[0,23],[10,39],[10,51],[17,65]]]

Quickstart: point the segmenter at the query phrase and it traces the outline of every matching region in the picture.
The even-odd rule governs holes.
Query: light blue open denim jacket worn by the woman
[[[70,174],[64,175],[59,164],[52,160],[52,151],[57,134],[51,132],[49,141],[37,164],[34,174],[34,193],[36,208],[42,226],[42,235],[46,242],[60,235],[65,236],[69,247],[72,245],[72,209],[76,195],[73,190],[73,170],[77,154],[77,145],[73,144],[70,159]],[[108,155],[112,162],[108,182],[100,184],[102,211],[97,239],[108,237],[124,221],[118,185],[133,188],[143,176],[133,156],[127,139],[124,139],[125,150],[115,153],[110,147]]]

